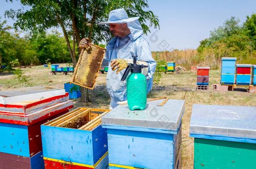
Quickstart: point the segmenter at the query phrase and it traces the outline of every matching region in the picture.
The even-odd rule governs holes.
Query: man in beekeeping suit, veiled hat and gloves
[[[126,81],[121,81],[128,63],[133,63],[132,56],[137,55],[138,64],[149,66],[143,68],[146,76],[147,93],[152,89],[153,74],[156,69],[156,61],[152,58],[149,43],[142,36],[143,30],[138,21],[139,17],[128,18],[124,9],[112,10],[107,22],[99,25],[108,25],[109,30],[115,36],[107,44],[107,51],[102,66],[108,66],[107,91],[110,94],[110,109],[118,106],[118,102],[127,100]],[[80,41],[80,48],[89,48],[88,38]],[[111,69],[110,69],[111,67]]]

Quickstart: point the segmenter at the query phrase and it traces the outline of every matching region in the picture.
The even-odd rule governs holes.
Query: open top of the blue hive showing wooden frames
[[[92,130],[101,124],[101,117],[109,112],[108,109],[77,108],[53,121],[48,126],[65,127],[72,129]]]

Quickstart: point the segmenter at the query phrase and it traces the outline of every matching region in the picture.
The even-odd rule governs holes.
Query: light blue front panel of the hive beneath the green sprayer
[[[107,129],[109,162],[148,169],[173,168],[173,135]]]

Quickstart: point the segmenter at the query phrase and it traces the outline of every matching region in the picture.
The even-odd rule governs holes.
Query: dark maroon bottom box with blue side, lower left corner
[[[1,169],[44,169],[43,152],[31,157],[0,153]]]

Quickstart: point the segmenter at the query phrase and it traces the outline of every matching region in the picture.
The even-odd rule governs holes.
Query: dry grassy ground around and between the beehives
[[[66,66],[65,64],[60,66]],[[31,76],[33,86],[44,85],[63,88],[63,83],[71,80],[72,73],[51,75],[50,68],[34,66],[24,68],[26,75]],[[246,88],[235,88],[235,91],[214,91],[212,84],[219,83],[220,70],[211,70],[209,90],[196,91],[196,72],[185,71],[182,74],[168,72],[158,85],[154,85],[148,98],[166,96],[170,99],[185,99],[185,114],[182,119],[182,168],[193,168],[193,138],[189,137],[189,123],[193,104],[256,106],[256,93],[248,93]],[[109,108],[110,98],[105,90],[106,74],[99,74],[97,84],[90,91],[90,103],[83,104],[80,99],[73,100],[75,107]],[[12,74],[0,74],[0,90],[21,88],[26,85],[18,83]],[[207,113],[207,112],[206,112]]]

